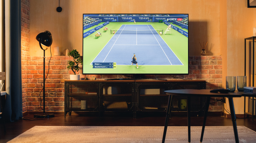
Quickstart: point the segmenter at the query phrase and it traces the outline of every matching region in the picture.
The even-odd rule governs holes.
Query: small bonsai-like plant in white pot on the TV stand
[[[76,50],[72,50],[71,52],[68,53],[68,56],[73,57],[73,61],[69,60],[68,61],[68,69],[71,69],[74,72],[74,75],[70,75],[70,80],[79,80],[80,75],[76,75],[75,72],[79,71],[80,67],[78,66],[79,64],[83,64],[82,59],[80,58],[80,54]]]

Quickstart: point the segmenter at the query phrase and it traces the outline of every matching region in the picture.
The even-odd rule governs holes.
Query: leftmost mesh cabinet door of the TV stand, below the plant
[[[98,83],[65,83],[65,114],[98,109]]]

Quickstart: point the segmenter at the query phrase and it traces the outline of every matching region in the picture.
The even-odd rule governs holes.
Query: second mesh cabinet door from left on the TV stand
[[[134,83],[100,83],[102,111],[133,111]]]

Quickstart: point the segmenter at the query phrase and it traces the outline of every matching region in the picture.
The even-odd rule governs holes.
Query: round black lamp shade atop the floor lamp
[[[42,48],[41,44],[47,46],[47,47],[50,47],[53,43],[53,38],[52,38],[52,34],[49,32],[49,31],[45,31],[45,32],[42,32],[42,33],[39,33],[36,38],[35,38],[38,42],[39,42],[39,45],[40,45],[40,48]],[[47,48],[48,49],[48,48]],[[44,49],[43,49],[44,50]],[[45,49],[46,50],[46,49]]]

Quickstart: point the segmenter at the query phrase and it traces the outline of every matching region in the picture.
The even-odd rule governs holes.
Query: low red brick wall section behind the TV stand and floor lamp
[[[69,80],[73,72],[67,69],[67,61],[72,60],[69,56],[53,56],[49,64],[50,57],[46,57],[46,111],[64,111],[64,82]],[[25,71],[24,71],[25,72]],[[25,111],[40,111],[40,101],[42,99],[43,84],[43,58],[42,56],[27,57],[27,82],[23,83],[27,93],[27,105]],[[83,75],[80,70],[81,80],[95,76],[97,79],[124,78],[122,75]],[[146,75],[151,78],[165,78],[169,80],[181,80],[191,78],[192,80],[206,80],[206,88],[222,87],[222,57],[221,56],[189,56],[188,75]],[[179,78],[177,78],[179,77]],[[24,91],[25,91],[24,89]],[[24,93],[25,94],[25,93]],[[26,99],[26,98],[25,98]],[[214,101],[212,101],[214,102]],[[43,105],[43,103],[41,103]],[[211,104],[209,111],[222,111],[220,102]]]

